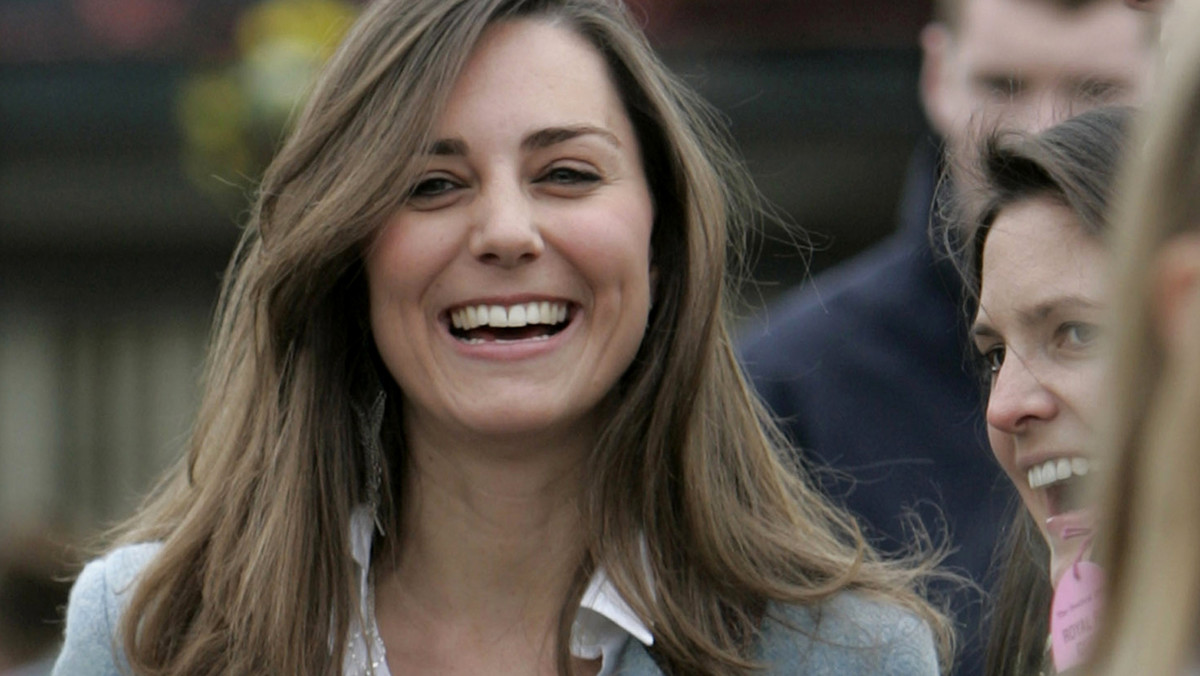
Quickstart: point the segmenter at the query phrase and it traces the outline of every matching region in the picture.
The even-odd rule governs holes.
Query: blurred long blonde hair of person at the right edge
[[[1105,621],[1091,674],[1183,674],[1200,622],[1200,351],[1154,330],[1156,261],[1200,223],[1200,7],[1176,2],[1160,86],[1116,211],[1112,396],[1103,430]],[[1187,312],[1194,313],[1195,305]],[[1192,324],[1195,325],[1195,324]]]

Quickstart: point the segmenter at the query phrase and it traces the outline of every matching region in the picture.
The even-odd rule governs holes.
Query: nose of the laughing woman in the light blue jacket
[[[512,268],[535,261],[546,245],[530,198],[518,186],[493,185],[480,196],[468,249],[478,261]]]

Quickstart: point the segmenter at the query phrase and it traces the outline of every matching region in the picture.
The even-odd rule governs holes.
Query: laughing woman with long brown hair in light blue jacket
[[[785,463],[733,358],[760,205],[714,119],[617,2],[372,5],[58,672],[935,674],[930,562]]]

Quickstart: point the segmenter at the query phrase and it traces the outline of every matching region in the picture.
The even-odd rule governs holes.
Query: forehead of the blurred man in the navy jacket
[[[965,0],[955,40],[968,70],[1136,83],[1153,49],[1146,22],[1120,0]]]

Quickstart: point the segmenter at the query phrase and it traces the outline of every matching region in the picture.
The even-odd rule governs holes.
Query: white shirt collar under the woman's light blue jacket
[[[361,617],[368,627],[350,621],[350,635],[342,665],[343,676],[391,676],[388,670],[383,639],[374,622],[374,590],[371,586],[371,542],[374,538],[374,518],[370,508],[359,507],[350,516],[350,554],[358,566]],[[610,676],[617,666],[617,656],[630,636],[646,646],[654,636],[632,609],[620,597],[602,568],[598,569],[580,600],[580,610],[571,624],[571,654],[581,659],[600,658],[600,674]]]

